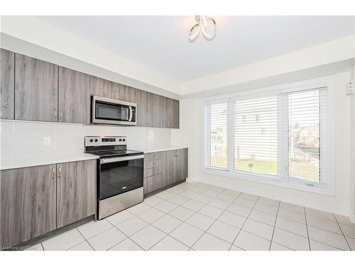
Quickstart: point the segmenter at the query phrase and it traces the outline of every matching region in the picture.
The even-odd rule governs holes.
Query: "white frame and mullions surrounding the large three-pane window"
[[[327,88],[327,129],[325,133],[327,134],[325,140],[325,147],[327,148],[327,152],[322,153],[326,154],[325,161],[322,160],[321,165],[321,182],[312,182],[302,179],[293,179],[288,177],[288,170],[286,167],[280,167],[284,165],[288,165],[288,149],[281,150],[279,147],[288,147],[285,145],[286,141],[288,141],[288,134],[284,133],[283,135],[279,135],[280,132],[285,130],[285,126],[288,127],[288,120],[285,120],[285,116],[278,116],[278,174],[277,176],[271,174],[261,174],[261,173],[253,173],[246,171],[238,171],[234,170],[234,111],[233,111],[233,103],[236,100],[244,100],[244,99],[256,99],[267,96],[278,95],[279,97],[285,96],[286,93],[289,92],[301,92],[309,89],[317,89],[317,88]],[[279,98],[280,99],[280,98]],[[227,169],[216,169],[213,167],[209,167],[204,160],[205,152],[209,151],[206,139],[205,128],[205,112],[203,111],[204,116],[204,126],[202,127],[202,135],[204,135],[204,145],[203,145],[203,153],[202,153],[202,162],[204,162],[204,169],[202,172],[206,174],[216,174],[224,177],[229,177],[232,179],[241,179],[249,182],[258,182],[263,184],[271,184],[278,187],[286,187],[290,189],[297,189],[305,192],[314,192],[318,194],[327,194],[330,196],[335,195],[335,172],[334,172],[334,77],[323,77],[319,79],[310,79],[302,82],[293,82],[289,84],[282,84],[273,87],[265,87],[261,89],[253,89],[249,91],[238,92],[235,94],[227,94],[224,96],[217,96],[204,99],[203,109],[206,104],[217,104],[221,102],[228,102],[227,108]],[[280,109],[278,112],[283,112],[281,108],[287,108],[284,105],[280,105]],[[287,135],[287,139],[285,139]],[[283,146],[282,146],[283,145]],[[322,149],[322,148],[321,148]]]

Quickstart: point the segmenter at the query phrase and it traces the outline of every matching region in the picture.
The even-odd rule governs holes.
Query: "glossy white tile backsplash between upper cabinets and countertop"
[[[84,126],[69,123],[0,121],[1,160],[9,158],[68,155],[84,152],[86,135],[127,136],[131,150],[167,148],[171,145],[168,128]],[[45,145],[45,138],[50,139]]]

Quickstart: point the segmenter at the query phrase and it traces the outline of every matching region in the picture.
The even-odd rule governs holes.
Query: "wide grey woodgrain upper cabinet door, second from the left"
[[[58,65],[15,55],[15,119],[58,121]]]

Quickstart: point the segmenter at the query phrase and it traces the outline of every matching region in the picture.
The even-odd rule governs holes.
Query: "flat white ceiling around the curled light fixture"
[[[355,34],[354,16],[214,16],[194,43],[194,16],[38,16],[175,82],[187,82]]]

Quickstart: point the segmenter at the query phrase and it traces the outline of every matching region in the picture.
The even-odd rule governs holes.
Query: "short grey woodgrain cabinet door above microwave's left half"
[[[118,85],[100,77],[90,76],[90,94],[114,99]]]

